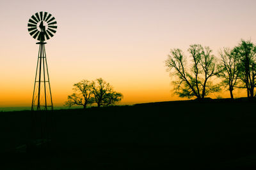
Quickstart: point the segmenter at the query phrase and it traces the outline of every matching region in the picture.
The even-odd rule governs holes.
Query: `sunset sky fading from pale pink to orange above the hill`
[[[31,105],[38,45],[27,24],[38,11],[58,22],[45,50],[53,103],[61,106],[74,83],[96,78],[124,95],[121,104],[180,99],[164,67],[170,49],[186,52],[199,43],[218,57],[241,39],[256,43],[255,6],[253,0],[1,0],[0,107]]]

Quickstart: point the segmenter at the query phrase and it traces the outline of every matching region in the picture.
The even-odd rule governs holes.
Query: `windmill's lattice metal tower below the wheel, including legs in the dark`
[[[45,42],[39,45],[38,60],[36,64],[35,85],[31,106],[31,146],[48,142],[55,131],[55,119],[53,115],[51,86],[47,67]]]

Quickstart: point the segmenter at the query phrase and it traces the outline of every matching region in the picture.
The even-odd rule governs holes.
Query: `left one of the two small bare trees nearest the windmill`
[[[93,103],[92,83],[88,80],[82,80],[74,85],[74,93],[68,96],[66,106],[81,105],[85,109],[86,106]]]

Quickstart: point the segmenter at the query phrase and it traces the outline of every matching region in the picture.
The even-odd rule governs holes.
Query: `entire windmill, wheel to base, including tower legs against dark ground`
[[[49,80],[49,71],[45,53],[45,40],[52,38],[56,33],[57,22],[50,13],[38,12],[28,20],[29,34],[38,40],[38,59],[36,64],[35,84],[31,104],[31,144],[38,146],[52,139],[55,124],[51,110],[52,94]]]

